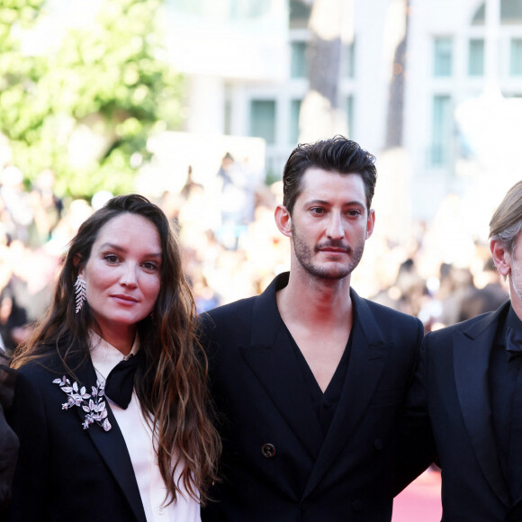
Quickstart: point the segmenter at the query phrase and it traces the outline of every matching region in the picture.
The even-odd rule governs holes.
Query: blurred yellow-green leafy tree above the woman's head
[[[41,2],[33,2],[32,20],[41,19]],[[0,12],[4,4],[16,2],[0,0]],[[22,70],[0,94],[0,132],[29,179],[50,166],[61,193],[132,189],[136,167],[148,160],[148,136],[179,125],[183,81],[162,58],[161,4],[104,0],[93,23],[69,29],[40,56],[23,57],[22,31],[11,43],[1,76]],[[23,7],[14,11],[23,19]]]

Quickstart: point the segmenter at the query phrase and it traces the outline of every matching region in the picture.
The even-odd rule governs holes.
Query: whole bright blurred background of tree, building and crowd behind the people
[[[503,302],[488,223],[522,177],[522,0],[0,0],[4,347],[119,193],[179,229],[200,311],[262,292],[289,267],[284,162],[338,133],[379,171],[357,292],[427,331]]]

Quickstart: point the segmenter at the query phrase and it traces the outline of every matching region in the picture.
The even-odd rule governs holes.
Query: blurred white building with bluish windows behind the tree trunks
[[[470,204],[499,202],[520,178],[522,0],[347,4],[339,105],[349,136],[378,159],[391,146],[402,150],[395,166],[383,160],[385,171],[401,170],[401,179],[380,183],[406,188],[409,214],[420,219],[433,217],[447,193],[471,194]],[[277,178],[298,141],[309,85],[311,2],[167,0],[166,6],[169,49],[189,78],[185,130],[265,139],[267,174]],[[401,44],[406,52],[397,63]],[[390,139],[397,71],[401,136]]]

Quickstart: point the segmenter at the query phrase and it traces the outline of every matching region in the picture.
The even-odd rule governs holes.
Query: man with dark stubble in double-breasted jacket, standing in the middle
[[[423,327],[350,288],[376,176],[349,139],[295,148],[275,210],[290,273],[202,315],[224,445],[203,520],[392,518],[396,423]]]

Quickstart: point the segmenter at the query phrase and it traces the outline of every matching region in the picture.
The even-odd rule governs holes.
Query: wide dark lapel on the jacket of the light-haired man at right
[[[506,505],[509,493],[500,469],[491,422],[488,368],[502,309],[453,336],[455,386],[464,425],[482,473]]]

